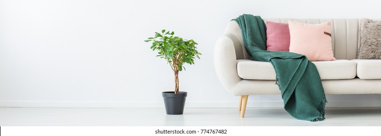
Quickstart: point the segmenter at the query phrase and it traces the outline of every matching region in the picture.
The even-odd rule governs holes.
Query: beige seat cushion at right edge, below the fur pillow
[[[360,79],[381,79],[381,60],[355,59],[357,77]]]

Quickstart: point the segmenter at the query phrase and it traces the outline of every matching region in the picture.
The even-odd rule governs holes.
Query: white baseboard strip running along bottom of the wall
[[[163,108],[163,102],[40,102],[1,101],[0,107],[42,108]],[[186,102],[185,108],[237,108],[238,102]],[[283,107],[281,101],[247,102],[246,107]],[[381,107],[381,101],[330,101],[327,107]]]

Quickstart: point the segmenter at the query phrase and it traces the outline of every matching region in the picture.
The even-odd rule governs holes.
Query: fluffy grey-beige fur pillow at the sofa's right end
[[[381,21],[363,19],[360,23],[358,59],[381,59]]]

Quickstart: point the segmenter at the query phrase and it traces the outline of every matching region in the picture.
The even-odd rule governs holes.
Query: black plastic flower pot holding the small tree
[[[181,115],[184,112],[185,98],[187,92],[179,92],[175,94],[174,91],[162,92],[164,99],[165,111],[169,115]]]

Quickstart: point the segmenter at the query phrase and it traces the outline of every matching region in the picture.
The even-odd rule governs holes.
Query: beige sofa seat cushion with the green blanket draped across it
[[[313,61],[321,80],[353,79],[356,77],[356,62],[349,60]],[[237,60],[238,75],[248,80],[275,80],[276,74],[270,62]]]

